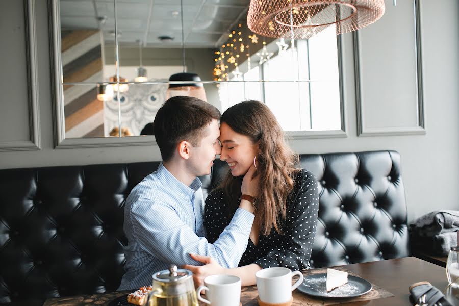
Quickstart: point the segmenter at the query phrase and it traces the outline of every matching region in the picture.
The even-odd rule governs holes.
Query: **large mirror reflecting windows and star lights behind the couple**
[[[261,100],[293,137],[345,136],[333,26],[308,40],[263,37],[247,27],[249,0],[52,3],[57,146],[151,143],[120,137],[151,135],[158,108],[185,85],[221,112]],[[199,79],[181,79],[190,73]]]

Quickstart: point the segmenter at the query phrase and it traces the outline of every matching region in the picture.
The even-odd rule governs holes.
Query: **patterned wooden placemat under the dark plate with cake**
[[[340,271],[345,271],[349,275],[360,277],[359,275],[341,267],[336,267],[334,268],[335,270],[340,270]],[[327,269],[314,269],[314,270],[305,270],[302,271],[304,276],[311,275],[311,274],[320,274],[320,273],[326,273]],[[351,298],[319,298],[319,297],[313,297],[304,293],[301,293],[298,290],[295,290],[292,292],[293,295],[293,304],[292,306],[317,306],[317,305],[322,305],[322,306],[328,306],[328,305],[338,305],[338,304],[344,304],[344,303],[350,303],[350,302],[360,302],[360,301],[368,301],[372,299],[378,299],[378,298],[386,298],[386,297],[392,297],[394,296],[392,293],[389,291],[382,289],[381,287],[371,283],[373,288],[371,289],[370,292],[358,296],[358,297],[351,297]],[[255,290],[253,290],[253,288]],[[246,292],[244,295],[241,295],[241,302],[244,306],[257,306],[257,297],[258,297],[258,292],[257,292],[257,287],[256,286],[250,286],[250,287],[242,287],[242,292]],[[241,293],[242,293],[241,292]]]

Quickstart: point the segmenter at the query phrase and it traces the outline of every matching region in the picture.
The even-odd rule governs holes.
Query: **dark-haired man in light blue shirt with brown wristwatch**
[[[203,225],[203,196],[197,176],[210,174],[220,154],[220,112],[197,98],[168,99],[155,117],[155,138],[162,163],[126,199],[126,264],[118,290],[151,283],[151,276],[170,264],[200,265],[190,254],[212,257],[222,267],[237,267],[247,246],[254,215],[241,204],[230,225],[208,243]]]

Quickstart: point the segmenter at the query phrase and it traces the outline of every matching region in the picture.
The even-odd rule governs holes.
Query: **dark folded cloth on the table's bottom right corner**
[[[429,282],[414,283],[410,286],[410,302],[412,305],[428,305],[428,306],[439,306],[439,302],[442,306],[452,306],[443,295],[443,293],[436,287],[433,287]],[[422,296],[425,295],[425,302]]]

